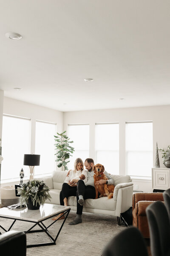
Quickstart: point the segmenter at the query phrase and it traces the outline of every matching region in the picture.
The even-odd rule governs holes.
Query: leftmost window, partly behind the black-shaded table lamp
[[[24,154],[30,152],[30,119],[3,115],[1,180],[20,179]]]

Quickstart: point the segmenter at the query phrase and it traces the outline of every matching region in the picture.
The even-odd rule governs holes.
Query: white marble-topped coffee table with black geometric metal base
[[[34,223],[34,225],[29,228],[27,231],[24,231],[26,234],[27,233],[36,233],[36,232],[45,232],[46,235],[51,239],[51,242],[47,243],[40,243],[40,244],[28,244],[27,247],[37,247],[37,246],[45,246],[45,245],[52,245],[56,244],[56,240],[59,236],[60,231],[62,230],[62,227],[65,223],[65,220],[68,217],[68,214],[70,212],[71,208],[70,207],[65,207],[62,205],[57,205],[57,204],[44,204],[44,206],[40,206],[39,210],[28,210],[27,207],[24,208],[19,208],[19,209],[8,209],[7,207],[1,208],[0,209],[0,218],[9,218],[13,219],[13,223],[9,227],[8,230],[6,230],[4,227],[0,225],[0,227],[5,231],[11,230],[11,227],[14,225],[16,221],[28,221],[31,223]],[[57,236],[53,238],[48,231],[48,228],[51,227],[56,221],[51,220],[51,224],[46,227],[43,221],[52,218],[59,213],[62,213],[62,215],[65,215],[65,219],[62,222],[61,227],[59,228],[59,231],[57,233]],[[35,226],[39,226],[40,229],[38,230],[32,230]],[[0,233],[1,234],[1,233]]]

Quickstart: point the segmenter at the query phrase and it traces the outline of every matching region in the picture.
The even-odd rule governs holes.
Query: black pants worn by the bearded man
[[[84,200],[85,199],[94,199],[96,197],[96,190],[94,188],[94,186],[85,186],[85,183],[83,180],[79,180],[77,183],[77,192],[76,192],[76,196],[77,196],[77,214],[82,214],[82,209],[83,206],[81,206],[78,203],[79,200],[79,195],[82,195]]]

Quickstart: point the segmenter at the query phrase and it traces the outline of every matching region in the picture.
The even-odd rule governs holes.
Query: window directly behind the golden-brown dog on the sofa
[[[119,124],[96,124],[96,163],[119,175]]]

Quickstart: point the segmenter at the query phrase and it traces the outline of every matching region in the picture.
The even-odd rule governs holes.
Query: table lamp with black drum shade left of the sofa
[[[29,166],[30,169],[30,180],[34,178],[34,166],[40,165],[40,155],[36,154],[25,154],[23,165]]]

